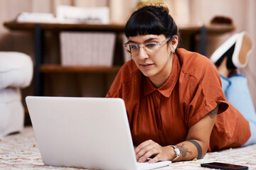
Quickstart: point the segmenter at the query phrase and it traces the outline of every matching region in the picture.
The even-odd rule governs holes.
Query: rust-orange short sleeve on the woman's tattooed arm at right
[[[219,106],[218,114],[228,108],[222,91],[220,75],[208,60],[197,64],[198,74],[183,75],[188,80],[190,100],[186,108],[188,127],[197,123],[203,116]]]

